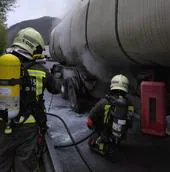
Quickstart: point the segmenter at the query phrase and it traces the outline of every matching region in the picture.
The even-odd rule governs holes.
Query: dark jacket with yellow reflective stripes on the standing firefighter
[[[21,78],[20,119],[24,123],[44,123],[44,90],[57,93],[55,80],[48,69],[41,63],[28,67],[30,62],[23,62],[24,74]],[[27,118],[27,119],[25,119]],[[35,119],[36,118],[36,119]]]

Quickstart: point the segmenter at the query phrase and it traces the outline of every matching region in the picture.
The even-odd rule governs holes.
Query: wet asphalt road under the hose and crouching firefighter
[[[54,95],[50,105],[51,96],[50,93],[45,93],[47,111],[64,119],[76,141],[91,133],[85,124],[88,112],[76,114],[69,108],[69,102],[60,95]],[[79,144],[81,153],[93,172],[170,171],[170,139],[141,134],[139,120],[134,123],[126,141],[121,145],[116,162],[92,152],[87,140]],[[48,126],[48,133],[56,145],[71,143],[64,125],[57,118],[49,116]],[[54,153],[58,155],[64,172],[89,172],[74,147],[58,148]]]

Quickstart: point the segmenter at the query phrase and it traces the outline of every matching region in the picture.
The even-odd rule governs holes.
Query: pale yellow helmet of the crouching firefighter
[[[126,76],[120,74],[115,75],[110,84],[110,90],[122,90],[128,93],[129,80]]]

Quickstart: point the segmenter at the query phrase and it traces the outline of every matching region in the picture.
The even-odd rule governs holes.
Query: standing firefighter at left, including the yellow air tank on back
[[[39,60],[43,49],[40,33],[25,28],[0,57],[0,171],[33,172],[38,167],[37,143],[47,130],[44,89],[58,92]]]

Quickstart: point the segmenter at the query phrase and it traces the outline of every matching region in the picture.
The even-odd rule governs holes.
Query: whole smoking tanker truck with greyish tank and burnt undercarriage
[[[103,96],[112,76],[119,73],[129,78],[139,113],[141,97],[148,95],[145,90],[163,88],[168,97],[169,8],[169,0],[81,0],[68,12],[52,30],[49,49],[59,63],[55,68],[61,92],[72,107],[78,109],[78,99],[84,95]],[[141,92],[142,82],[144,88],[148,85]],[[151,101],[152,108],[148,107],[152,116],[157,111],[154,105]]]

